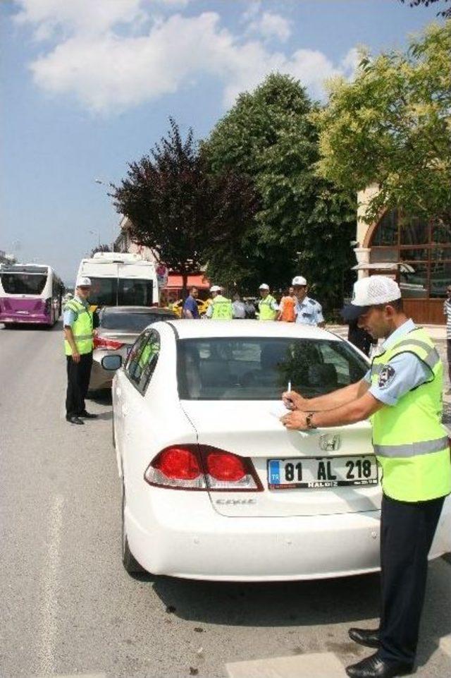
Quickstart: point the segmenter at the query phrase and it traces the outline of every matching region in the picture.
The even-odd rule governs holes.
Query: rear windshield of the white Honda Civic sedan
[[[178,392],[184,400],[278,400],[306,397],[362,379],[368,365],[344,341],[209,338],[178,341]]]

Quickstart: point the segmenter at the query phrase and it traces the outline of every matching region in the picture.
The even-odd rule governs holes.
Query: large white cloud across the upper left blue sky
[[[221,83],[226,106],[272,71],[295,75],[321,97],[323,80],[348,75],[354,63],[352,50],[334,65],[319,51],[270,49],[261,32],[252,40],[247,28],[241,34],[223,28],[218,13],[161,14],[163,5],[175,2],[187,0],[20,0],[18,21],[52,36],[30,63],[36,85],[108,115],[176,92],[202,75]],[[259,4],[252,16],[265,16]],[[288,37],[283,23],[271,30],[279,40]]]

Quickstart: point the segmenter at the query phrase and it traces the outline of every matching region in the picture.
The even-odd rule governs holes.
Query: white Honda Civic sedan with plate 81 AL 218
[[[121,358],[104,361],[113,369]],[[288,382],[315,396],[367,368],[347,341],[315,327],[147,327],[112,389],[125,569],[224,581],[377,570],[381,488],[369,423],[304,433],[279,421]],[[450,550],[450,528],[447,500],[432,557]]]

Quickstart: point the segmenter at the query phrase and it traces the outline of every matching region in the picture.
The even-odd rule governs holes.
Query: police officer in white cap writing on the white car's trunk
[[[351,678],[392,678],[412,672],[424,603],[428,552],[445,496],[451,492],[450,448],[441,423],[443,364],[424,329],[402,308],[399,286],[372,276],[354,284],[342,315],[359,318],[385,339],[364,379],[306,399],[285,392],[288,429],[352,424],[371,416],[382,471],[381,622],[350,629],[353,641],[376,653],[347,667]]]

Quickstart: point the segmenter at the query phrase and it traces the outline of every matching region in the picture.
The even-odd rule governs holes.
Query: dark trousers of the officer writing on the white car
[[[398,502],[383,495],[379,651],[383,660],[414,661],[428,553],[444,500]]]

